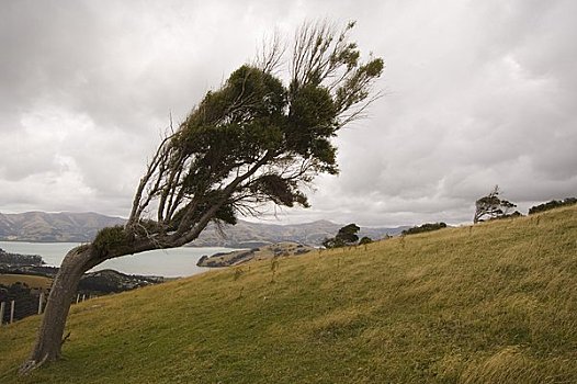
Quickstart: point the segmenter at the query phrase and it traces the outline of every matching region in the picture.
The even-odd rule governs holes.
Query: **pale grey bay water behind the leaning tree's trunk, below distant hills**
[[[0,241],[0,248],[10,253],[39,255],[47,266],[59,267],[65,255],[79,242],[25,242]],[[91,271],[113,269],[126,274],[156,275],[165,278],[190,276],[208,270],[196,267],[203,256],[229,252],[236,249],[220,247],[181,247],[156,249],[137,255],[106,260]]]

